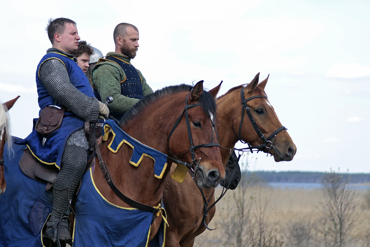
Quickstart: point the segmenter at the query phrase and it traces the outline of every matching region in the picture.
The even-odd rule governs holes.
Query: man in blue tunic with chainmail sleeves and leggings
[[[72,55],[80,40],[76,23],[67,18],[50,19],[46,30],[52,48],[37,66],[38,104],[40,109],[55,105],[66,110],[58,130],[45,138],[34,129],[24,141],[38,160],[60,168],[54,183],[53,210],[43,237],[54,242],[59,238],[71,245],[65,212],[86,168],[88,142],[84,122],[96,122],[99,114],[108,116],[109,110],[94,97],[85,74]]]

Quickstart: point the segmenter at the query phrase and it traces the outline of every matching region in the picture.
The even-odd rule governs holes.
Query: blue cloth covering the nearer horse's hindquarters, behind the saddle
[[[13,137],[20,141],[20,138]],[[28,178],[19,168],[25,145],[4,147],[6,191],[0,196],[0,246],[40,247],[41,229],[51,213],[53,195],[45,183]]]

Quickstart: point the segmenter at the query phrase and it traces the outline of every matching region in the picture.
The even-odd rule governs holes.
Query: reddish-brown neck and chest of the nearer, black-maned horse
[[[175,107],[179,105],[179,102],[176,103],[175,98],[167,101],[173,106],[171,111],[161,110],[163,104],[161,102],[155,102],[145,107],[145,110],[142,110],[137,116],[128,120],[127,123],[122,126],[122,130],[146,146],[168,155],[169,147],[167,138],[172,128],[172,125],[170,124],[175,123],[175,118],[178,117],[177,112],[180,114],[181,110],[180,106]],[[183,106],[181,105],[181,108],[182,107]],[[176,112],[176,116],[174,116],[174,112]],[[170,119],[174,120],[169,121]],[[105,143],[105,146],[107,146],[109,142],[110,140]],[[117,174],[115,177],[112,175],[114,183],[124,194],[127,194],[128,197],[141,203],[157,206],[154,205],[154,203],[158,204],[162,197],[164,180],[168,175],[172,162],[167,160],[165,172],[162,178],[158,179],[154,176],[154,162],[152,159],[144,156],[142,157],[139,166],[134,167],[129,163],[131,158],[130,152],[127,151],[129,148],[125,149],[126,151],[119,150],[116,154],[107,153],[108,156],[117,160],[116,162],[112,162],[112,168],[110,168],[110,170],[112,170],[111,173]],[[122,169],[125,169],[125,171],[129,172],[130,175],[121,176],[120,174],[122,174]]]

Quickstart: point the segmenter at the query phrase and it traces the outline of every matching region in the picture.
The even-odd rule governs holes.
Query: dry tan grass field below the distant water
[[[240,190],[240,187],[237,190]],[[221,188],[217,188],[216,196]],[[240,192],[240,191],[239,191]],[[366,198],[369,198],[367,190],[355,190],[359,206],[355,213],[360,217],[355,221],[353,230],[350,231],[346,243],[342,247],[370,246],[370,209]],[[216,214],[209,224],[210,228],[195,239],[195,247],[218,247],[218,246],[289,246],[289,247],[321,247],[337,246],[324,241],[322,234],[323,214],[320,203],[324,201],[321,189],[292,189],[272,188],[268,186],[248,186],[245,189],[244,201],[248,204],[245,215],[248,220],[238,223],[236,217],[237,206],[235,198],[241,194],[238,191],[228,191],[216,205]],[[240,204],[239,204],[240,205]],[[264,211],[263,211],[264,210]],[[262,213],[261,213],[262,212]],[[240,214],[240,213],[239,213]],[[256,233],[262,218],[265,227],[265,243],[256,244]],[[242,225],[242,226],[238,226]],[[236,231],[242,231],[239,242],[236,243]],[[234,230],[233,230],[234,229]],[[242,229],[242,230],[240,230]],[[251,234],[254,232],[254,234]],[[242,241],[240,241],[242,240]],[[268,241],[269,240],[269,241]]]

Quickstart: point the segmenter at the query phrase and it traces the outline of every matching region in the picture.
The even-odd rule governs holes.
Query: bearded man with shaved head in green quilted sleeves
[[[143,96],[153,93],[141,72],[131,64],[139,44],[139,31],[129,23],[118,24],[113,32],[115,51],[102,58],[92,70],[95,96],[101,100],[113,97],[111,115],[117,119]]]

